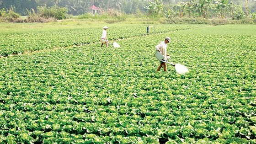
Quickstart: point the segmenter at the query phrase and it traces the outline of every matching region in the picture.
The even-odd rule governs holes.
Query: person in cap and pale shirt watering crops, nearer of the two
[[[162,61],[165,61],[165,62],[167,62],[167,56],[169,56],[167,54],[167,44],[170,43],[170,41],[171,41],[171,38],[166,37],[165,41],[162,41],[158,45],[155,46],[156,50],[164,56],[164,59]],[[162,66],[164,66],[164,71],[167,71],[166,63],[162,62],[162,61],[160,61],[160,66],[158,67],[157,71],[160,71]]]

